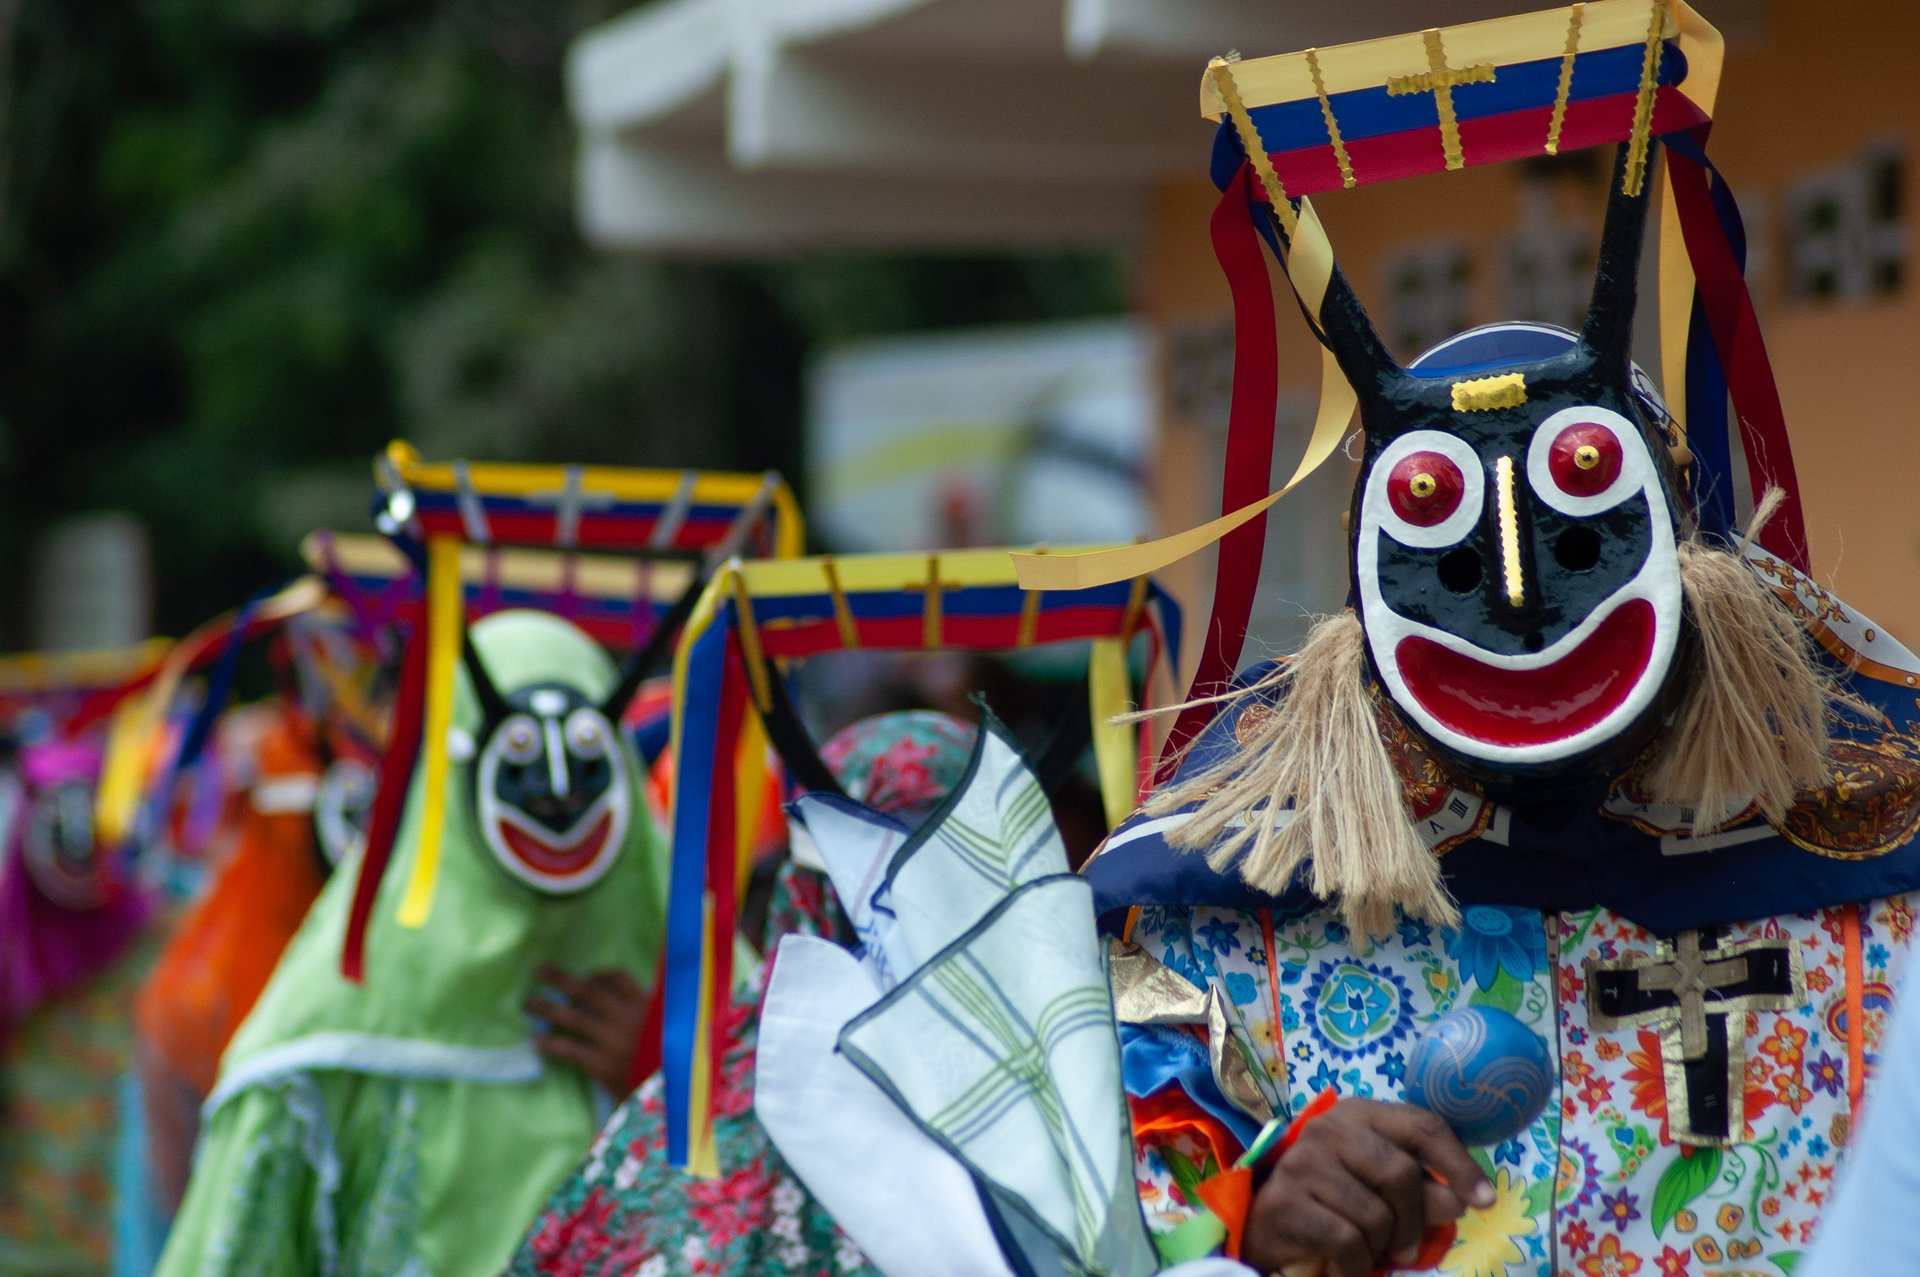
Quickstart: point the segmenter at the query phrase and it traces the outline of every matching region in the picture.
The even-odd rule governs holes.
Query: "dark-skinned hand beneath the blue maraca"
[[[1411,1104],[1340,1100],[1260,1185],[1240,1250],[1263,1273],[1367,1277],[1411,1264],[1421,1233],[1469,1204],[1492,1206],[1494,1185],[1446,1121]]]

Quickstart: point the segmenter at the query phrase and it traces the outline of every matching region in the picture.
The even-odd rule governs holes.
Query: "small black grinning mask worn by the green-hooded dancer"
[[[482,839],[536,891],[591,887],[634,820],[632,753],[614,726],[634,682],[622,678],[601,705],[563,682],[503,693],[472,639],[465,659],[482,711],[472,766]]]

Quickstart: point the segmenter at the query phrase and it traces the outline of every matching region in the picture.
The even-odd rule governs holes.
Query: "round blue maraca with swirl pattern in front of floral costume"
[[[1440,1016],[1407,1054],[1407,1102],[1444,1118],[1476,1148],[1532,1125],[1551,1089],[1548,1045],[1492,1006]]]

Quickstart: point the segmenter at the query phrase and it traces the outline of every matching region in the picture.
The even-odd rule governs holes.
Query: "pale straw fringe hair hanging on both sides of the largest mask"
[[[1738,549],[1780,499],[1780,490],[1761,497]],[[1647,795],[1692,808],[1697,831],[1726,824],[1749,803],[1778,820],[1797,793],[1828,780],[1830,707],[1874,711],[1824,672],[1803,624],[1740,553],[1701,542],[1678,549],[1699,641],[1686,693],[1644,764]],[[1327,616],[1296,657],[1258,684],[1192,701],[1252,701],[1240,749],[1162,787],[1144,810],[1165,816],[1198,805],[1167,841],[1208,851],[1215,870],[1244,855],[1240,878],[1260,891],[1281,895],[1311,866],[1309,889],[1338,903],[1357,935],[1386,935],[1396,908],[1457,926],[1459,908],[1438,858],[1415,833],[1375,716],[1365,647],[1354,613]],[[1263,712],[1267,701],[1277,709]]]

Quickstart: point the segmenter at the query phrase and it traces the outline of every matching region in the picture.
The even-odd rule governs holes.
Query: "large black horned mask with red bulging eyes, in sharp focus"
[[[1594,303],[1538,359],[1402,369],[1344,278],[1327,342],[1359,394],[1352,513],[1367,655],[1463,772],[1615,766],[1661,722],[1682,649],[1676,472],[1628,355],[1645,196],[1611,186]],[[1450,344],[1452,346],[1452,344]]]

